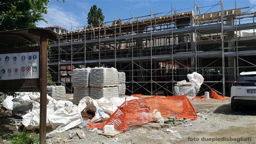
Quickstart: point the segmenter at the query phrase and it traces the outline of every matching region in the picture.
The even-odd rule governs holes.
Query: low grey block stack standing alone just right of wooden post
[[[55,100],[66,99],[65,86],[47,86],[47,94]]]

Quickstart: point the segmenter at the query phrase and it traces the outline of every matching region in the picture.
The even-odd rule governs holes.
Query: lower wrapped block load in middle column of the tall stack
[[[90,97],[92,99],[118,97],[118,87],[91,87]]]

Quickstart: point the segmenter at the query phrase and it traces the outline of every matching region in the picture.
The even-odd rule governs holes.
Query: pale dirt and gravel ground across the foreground
[[[80,129],[75,128],[49,135],[52,138],[47,141],[49,143],[212,143],[216,139],[218,141],[214,141],[215,143],[256,143],[255,107],[241,108],[240,112],[233,112],[228,100],[191,100],[191,103],[198,113],[198,119],[169,128],[177,131],[175,133],[166,128],[157,130],[134,126],[122,134],[107,138],[98,135],[97,131],[90,132],[83,128],[85,139],[80,140],[75,136],[72,141],[64,142],[68,140],[70,133]],[[227,141],[230,138],[236,140]],[[242,141],[246,138],[251,141]]]

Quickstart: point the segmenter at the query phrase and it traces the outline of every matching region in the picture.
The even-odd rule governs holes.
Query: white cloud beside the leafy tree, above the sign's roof
[[[48,6],[48,13],[44,16],[44,19],[46,19],[48,23],[40,21],[37,23],[38,27],[45,28],[46,26],[58,25],[69,30],[71,25],[79,25],[78,20],[73,13],[66,12],[58,6]]]

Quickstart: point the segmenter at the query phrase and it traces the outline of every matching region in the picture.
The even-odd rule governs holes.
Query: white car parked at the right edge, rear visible
[[[232,110],[247,105],[256,106],[256,71],[241,72],[231,87]]]

